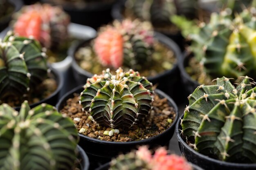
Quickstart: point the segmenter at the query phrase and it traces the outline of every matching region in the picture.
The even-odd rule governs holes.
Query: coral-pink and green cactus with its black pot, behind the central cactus
[[[70,55],[74,57],[72,68],[78,84],[102,69],[132,68],[175,97],[172,87],[179,81],[176,63],[180,50],[172,40],[154,33],[148,22],[115,20],[101,27],[97,38],[72,46]]]

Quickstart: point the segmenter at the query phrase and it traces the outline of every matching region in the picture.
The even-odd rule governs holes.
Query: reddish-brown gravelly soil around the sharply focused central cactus
[[[153,110],[151,110],[150,115],[144,121],[140,124],[135,124],[128,130],[119,128],[119,134],[114,133],[112,137],[103,134],[105,130],[111,130],[111,128],[97,126],[90,119],[90,114],[82,111],[82,106],[79,104],[79,94],[77,93],[74,93],[73,98],[67,99],[61,113],[70,117],[78,130],[85,128],[85,132],[82,133],[83,135],[105,141],[126,142],[154,137],[164,132],[173,124],[177,115],[174,108],[168,105],[166,98],[160,99],[156,95],[153,106]]]

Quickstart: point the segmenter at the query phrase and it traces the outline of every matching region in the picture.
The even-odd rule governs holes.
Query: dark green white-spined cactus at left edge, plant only
[[[47,77],[45,53],[34,39],[8,32],[0,41],[0,99],[27,94]]]

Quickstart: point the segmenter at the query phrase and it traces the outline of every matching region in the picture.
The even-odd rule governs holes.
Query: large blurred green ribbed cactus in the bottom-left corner
[[[53,106],[20,112],[0,105],[0,167],[2,170],[70,170],[76,158],[77,130]]]

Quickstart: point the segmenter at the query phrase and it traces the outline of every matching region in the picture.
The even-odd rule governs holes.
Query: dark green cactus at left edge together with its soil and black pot
[[[56,104],[63,78],[48,68],[40,44],[10,31],[0,44],[0,104],[18,110],[25,99],[31,107],[43,102]]]

